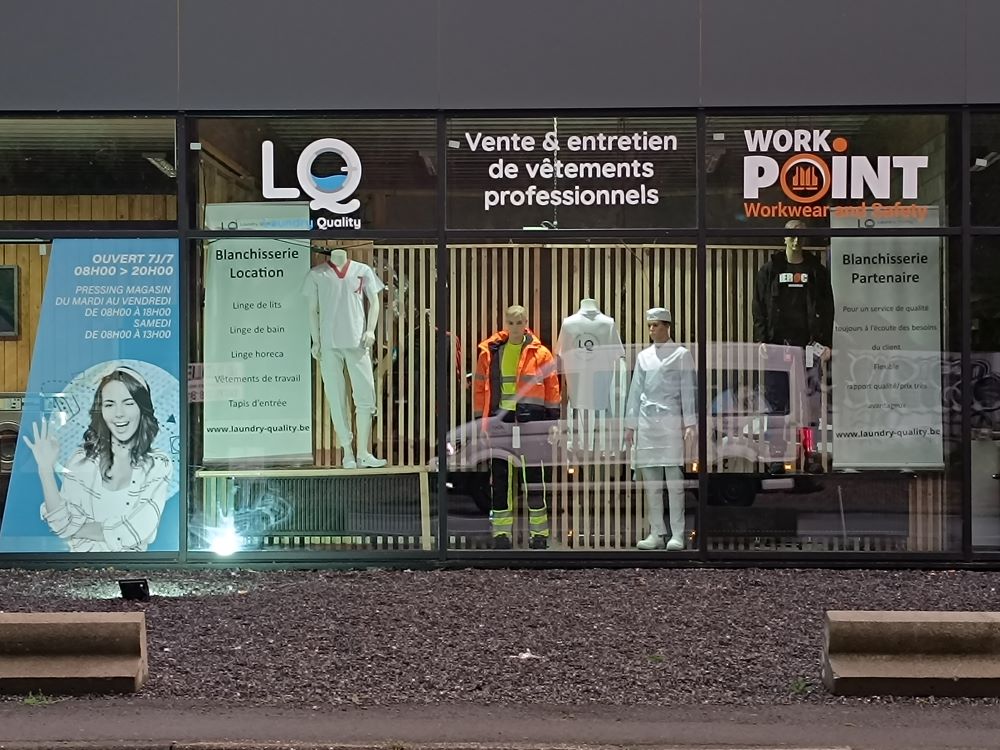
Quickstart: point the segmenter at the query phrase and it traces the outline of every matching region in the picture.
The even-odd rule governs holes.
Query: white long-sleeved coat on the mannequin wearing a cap
[[[625,426],[635,430],[636,468],[683,466],[684,428],[698,424],[694,359],[670,341],[639,352],[632,373]]]

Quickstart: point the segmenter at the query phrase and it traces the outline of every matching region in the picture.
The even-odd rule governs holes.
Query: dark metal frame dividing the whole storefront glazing
[[[162,225],[150,226],[147,223],[123,223],[104,224],[95,226],[93,223],[79,222],[73,226],[67,226],[65,222],[30,222],[25,223],[23,228],[10,226],[3,229],[3,235],[12,240],[29,240],[36,237],[45,239],[56,238],[80,238],[80,237],[100,237],[100,238],[154,238],[168,237],[176,238],[179,242],[179,294],[182,326],[180,331],[181,346],[181,378],[187,377],[187,369],[190,364],[189,353],[189,325],[192,320],[192,300],[188,289],[188,276],[191,270],[191,262],[196,254],[196,244],[203,239],[213,239],[217,237],[236,236],[235,232],[215,232],[197,229],[192,222],[192,217],[196,209],[195,198],[197,196],[196,179],[197,165],[189,150],[189,144],[197,138],[197,123],[202,118],[226,118],[226,119],[251,119],[251,118],[321,118],[328,119],[331,123],[347,117],[365,117],[377,119],[380,117],[425,117],[434,118],[437,124],[437,159],[438,159],[438,180],[437,180],[437,201],[438,221],[434,229],[428,230],[399,230],[399,231],[378,231],[370,232],[380,238],[407,238],[425,239],[429,243],[436,243],[436,269],[437,269],[437,299],[436,315],[439,320],[447,320],[449,314],[449,299],[447,293],[450,257],[448,245],[456,241],[469,240],[489,240],[504,239],[514,241],[538,241],[538,232],[525,232],[523,230],[470,230],[470,229],[450,229],[447,222],[447,127],[451,118],[461,117],[463,119],[475,117],[489,117],[492,119],[502,119],[504,117],[637,117],[637,116],[661,116],[661,117],[694,117],[696,121],[696,225],[686,227],[644,227],[644,228],[617,228],[617,229],[554,229],[547,230],[545,238],[549,242],[572,241],[580,239],[590,240],[615,240],[629,238],[670,238],[670,237],[697,237],[697,273],[699,278],[705,278],[706,274],[706,247],[713,239],[719,238],[753,238],[753,237],[773,237],[776,229],[752,228],[752,227],[707,227],[706,226],[706,170],[705,170],[705,146],[706,129],[709,117],[753,117],[755,115],[774,115],[775,113],[791,112],[789,108],[698,108],[698,109],[659,109],[659,108],[634,108],[628,110],[461,110],[461,111],[414,111],[414,110],[356,110],[356,111],[296,111],[275,112],[275,111],[253,111],[253,112],[226,112],[226,111],[197,111],[197,112],[129,112],[129,113],[94,113],[94,112],[9,112],[2,115],[4,118],[15,117],[45,117],[51,119],[70,119],[79,117],[166,117],[173,119],[176,124],[176,152],[177,152],[177,224],[174,228],[163,228]],[[845,115],[845,114],[939,114],[949,117],[949,135],[957,129],[959,133],[959,143],[949,144],[949,151],[958,154],[957,157],[949,154],[948,158],[958,158],[959,163],[955,168],[959,171],[961,181],[959,189],[961,221],[959,225],[942,227],[939,229],[905,229],[905,230],[846,230],[846,229],[804,229],[797,230],[796,234],[804,237],[837,237],[837,236],[939,236],[942,238],[958,239],[961,243],[961,325],[962,335],[962,370],[968,372],[971,363],[971,333],[969,323],[971,320],[971,305],[969,293],[971,290],[972,274],[972,242],[978,236],[998,236],[1000,226],[971,226],[971,180],[970,180],[970,158],[971,158],[971,132],[972,118],[978,113],[997,113],[997,108],[963,106],[941,106],[941,107],[803,107],[794,110],[799,115]],[[957,123],[957,125],[956,125]],[[949,163],[949,168],[952,166]],[[783,231],[783,230],[778,230]],[[244,236],[247,233],[243,233]],[[310,231],[310,232],[253,232],[254,237],[279,237],[296,238],[304,237],[311,239],[332,239],[342,238],[342,232],[336,231]],[[706,320],[707,291],[704,284],[698,285],[698,296],[696,300],[697,338],[702,342],[707,337]],[[441,329],[435,337],[437,347],[436,357],[439,372],[448,369],[448,347],[446,332]],[[708,453],[707,431],[705,429],[707,421],[707,373],[706,373],[706,350],[704,346],[698,347],[698,399],[699,399],[699,438],[698,451],[701,466],[707,466],[706,457]],[[438,403],[447,403],[449,399],[450,382],[447,378],[439,378],[435,384],[435,398]],[[182,385],[182,392],[184,385]],[[961,551],[943,553],[898,553],[879,556],[877,553],[774,553],[774,552],[740,552],[740,553],[720,553],[708,552],[706,549],[704,535],[699,535],[699,546],[697,550],[682,553],[677,556],[655,555],[648,553],[620,551],[608,553],[580,553],[551,551],[547,553],[538,552],[504,552],[502,554],[491,552],[472,552],[462,550],[450,550],[447,547],[448,519],[447,513],[440,512],[447,506],[447,475],[445,452],[438,450],[439,471],[437,472],[437,503],[439,511],[437,514],[437,547],[430,552],[397,552],[386,551],[372,552],[352,552],[352,553],[329,553],[304,551],[280,551],[280,552],[244,552],[237,553],[229,558],[219,558],[218,556],[205,551],[190,550],[188,548],[188,498],[191,490],[190,478],[190,456],[187,455],[189,446],[189,428],[187,410],[182,409],[180,434],[181,443],[185,450],[185,460],[182,465],[180,482],[180,549],[174,553],[142,553],[139,555],[80,555],[80,554],[3,554],[0,555],[0,566],[25,565],[30,567],[60,567],[73,565],[99,565],[109,562],[128,563],[142,567],[162,566],[167,563],[180,564],[215,564],[215,565],[268,565],[278,564],[286,567],[307,566],[315,567],[317,564],[329,565],[331,567],[355,567],[357,565],[379,564],[386,567],[412,566],[414,564],[424,564],[428,566],[464,566],[470,563],[482,567],[498,567],[507,565],[524,564],[532,567],[667,567],[667,566],[813,566],[813,567],[941,567],[950,568],[957,565],[968,567],[990,567],[1000,566],[1000,550],[985,551],[976,550],[972,547],[972,470],[971,470],[971,393],[968,388],[962,389],[962,474],[961,474],[961,509],[962,509],[962,548]],[[439,420],[437,430],[438,446],[444,445],[448,425],[445,420]],[[699,519],[704,517],[707,503],[708,473],[699,473]]]

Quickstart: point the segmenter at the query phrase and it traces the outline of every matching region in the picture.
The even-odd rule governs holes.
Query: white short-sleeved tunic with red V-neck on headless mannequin
[[[348,260],[342,267],[331,262],[313,266],[302,294],[319,308],[320,349],[361,348],[365,333],[365,296],[385,289],[371,266]]]

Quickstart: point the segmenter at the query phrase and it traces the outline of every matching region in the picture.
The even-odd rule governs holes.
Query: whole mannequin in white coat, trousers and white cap
[[[639,352],[625,409],[625,439],[634,445],[634,466],[643,483],[649,536],[639,549],[684,549],[684,453],[695,437],[694,360],[670,338],[670,311],[646,311],[653,345]],[[664,544],[663,487],[670,508],[670,541]]]

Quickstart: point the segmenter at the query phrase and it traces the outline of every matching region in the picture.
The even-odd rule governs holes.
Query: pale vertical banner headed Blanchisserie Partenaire
[[[937,209],[920,208],[832,212],[831,226],[937,228]],[[940,238],[835,237],[830,249],[834,468],[941,469]]]

